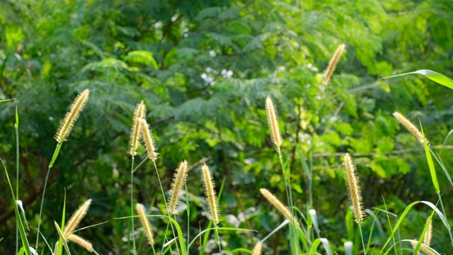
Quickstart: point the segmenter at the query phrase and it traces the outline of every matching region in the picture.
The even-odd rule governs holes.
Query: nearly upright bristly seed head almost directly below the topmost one
[[[360,195],[359,180],[354,171],[351,157],[346,154],[343,166],[345,166],[346,186],[348,186],[348,196],[352,207],[354,208],[355,222],[362,223],[365,219],[365,212],[362,206],[362,196]]]

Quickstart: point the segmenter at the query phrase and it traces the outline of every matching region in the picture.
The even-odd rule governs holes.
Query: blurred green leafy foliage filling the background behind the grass
[[[400,111],[413,123],[420,118],[440,153],[453,128],[452,91],[423,76],[379,79],[417,69],[453,77],[452,16],[449,0],[0,1],[0,100],[15,98],[0,103],[0,157],[15,183],[17,106],[18,197],[30,242],[57,145],[52,137],[76,94],[87,88],[90,99],[50,173],[41,226],[49,242],[58,237],[52,221],[61,221],[66,190],[67,214],[93,199],[81,226],[108,220],[79,234],[101,254],[127,253],[128,220],[113,218],[130,213],[127,149],[141,100],[159,147],[164,188],[179,162],[193,166],[187,182],[191,224],[181,212],[182,227],[193,237],[207,225],[200,181],[200,164],[206,162],[217,191],[225,180],[221,225],[258,231],[225,232],[225,251],[251,249],[283,220],[259,193],[268,188],[285,200],[265,115],[267,96],[279,113],[294,205],[306,210],[309,198],[297,144],[313,166],[314,209],[333,249],[341,252],[348,239],[345,152],[357,164],[365,208],[382,207],[383,198],[397,214],[415,200],[437,203],[423,147],[391,113]],[[342,43],[345,54],[323,86],[324,70]],[[452,155],[451,147],[442,151],[447,168]],[[452,186],[437,168],[452,218]],[[16,223],[6,176],[0,179],[0,253],[11,254]],[[151,163],[135,173],[134,192],[136,202],[153,213],[165,212]],[[418,238],[430,212],[415,206],[401,237]],[[166,223],[157,218],[151,223],[161,243]],[[365,222],[365,232],[371,224]],[[432,247],[449,254],[447,230],[438,217],[434,224]],[[287,252],[285,231],[265,242],[266,254]],[[74,254],[84,251],[74,247]]]

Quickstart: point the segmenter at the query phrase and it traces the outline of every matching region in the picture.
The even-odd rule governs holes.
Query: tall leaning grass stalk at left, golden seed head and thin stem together
[[[55,148],[54,154],[52,155],[52,159],[50,160],[50,164],[47,169],[47,174],[45,176],[44,188],[42,190],[40,215],[38,217],[38,233],[36,234],[35,250],[38,250],[38,243],[39,243],[39,238],[40,238],[42,206],[44,205],[45,191],[47,188],[47,180],[49,179],[50,169],[52,168],[55,161],[57,160],[59,150],[62,148],[63,142],[67,139],[67,137],[71,133],[71,130],[74,127],[74,123],[76,122],[77,118],[79,118],[81,111],[84,110],[86,102],[88,101],[89,94],[90,94],[90,90],[85,89],[84,91],[81,92],[81,94],[76,96],[76,98],[74,99],[74,103],[71,104],[70,111],[64,116],[64,119],[61,121],[59,128],[57,129],[57,133],[55,135],[55,140],[57,140],[58,144],[57,144],[57,147]]]

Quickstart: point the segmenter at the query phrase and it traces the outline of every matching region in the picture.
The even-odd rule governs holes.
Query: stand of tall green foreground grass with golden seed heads
[[[340,48],[340,52],[343,49]],[[340,55],[340,53],[338,53]],[[338,56],[337,56],[338,58]],[[338,60],[337,60],[338,61]],[[11,180],[8,176],[8,171],[6,166],[4,165],[4,172],[6,174],[6,179],[8,181],[8,186],[11,190],[11,203],[13,203],[13,208],[16,216],[16,224],[17,224],[17,231],[16,231],[16,254],[26,254],[32,255],[35,254],[35,251],[38,253],[50,253],[50,254],[62,254],[62,247],[64,247],[64,251],[67,254],[71,254],[70,246],[71,243],[79,244],[83,249],[87,251],[96,253],[93,245],[88,240],[80,237],[78,234],[74,234],[77,225],[81,221],[81,218],[86,215],[86,212],[91,204],[91,200],[87,200],[86,203],[81,205],[81,207],[74,213],[71,217],[69,222],[65,224],[64,215],[65,209],[63,210],[63,219],[61,227],[55,222],[55,227],[57,228],[58,236],[56,237],[59,239],[59,242],[55,245],[55,251],[52,251],[52,248],[47,242],[47,239],[43,238],[45,244],[47,244],[46,249],[38,250],[38,244],[40,240],[40,223],[42,220],[42,207],[45,198],[45,189],[47,186],[47,179],[49,176],[50,169],[52,168],[53,164],[57,159],[59,154],[59,150],[62,148],[62,144],[64,140],[67,139],[69,133],[71,132],[71,128],[74,125],[76,118],[79,116],[80,111],[84,108],[86,101],[88,100],[89,91],[86,90],[82,92],[79,96],[76,97],[73,105],[71,106],[71,110],[65,116],[62,124],[60,125],[59,130],[57,131],[57,135],[55,139],[57,140],[57,147],[55,149],[55,153],[52,156],[52,160],[49,164],[47,176],[45,179],[44,189],[42,191],[42,199],[40,203],[40,211],[38,217],[38,227],[37,227],[37,238],[35,249],[30,246],[28,242],[28,229],[25,219],[25,214],[21,214],[21,202],[18,200],[19,198],[19,151],[18,151],[18,143],[19,143],[19,121],[18,121],[18,113],[16,108],[16,191],[14,191],[13,186],[11,184]],[[294,148],[297,151],[299,159],[301,161],[302,169],[304,170],[304,174],[306,174],[307,179],[309,180],[309,200],[306,202],[304,207],[306,208],[306,213],[301,210],[302,208],[297,208],[294,205],[294,198],[292,194],[292,172],[289,168],[289,164],[287,162],[287,158],[285,156],[285,148],[282,147],[284,137],[282,137],[279,122],[277,119],[276,107],[274,106],[273,101],[268,97],[265,100],[265,109],[268,116],[268,122],[270,127],[270,134],[273,140],[273,143],[276,148],[277,156],[280,161],[281,166],[281,174],[285,181],[285,194],[287,198],[287,205],[282,203],[278,197],[281,197],[282,194],[279,193],[271,193],[265,187],[258,187],[260,188],[260,192],[263,196],[270,202],[270,205],[279,211],[283,217],[286,218],[282,224],[275,229],[272,229],[268,235],[260,239],[254,243],[250,243],[250,247],[248,248],[237,248],[231,251],[231,253],[239,253],[245,252],[248,254],[262,254],[263,250],[267,245],[268,239],[272,237],[277,232],[282,232],[283,234],[289,237],[289,251],[291,254],[318,254],[323,247],[323,251],[326,254],[334,254],[334,251],[331,246],[331,242],[323,237],[325,232],[321,231],[321,226],[318,222],[318,214],[316,210],[314,210],[314,201],[311,196],[312,188],[312,179],[314,177],[313,174],[313,164],[312,164],[312,152],[313,147],[309,150],[308,159],[309,164],[306,163],[306,157],[304,157],[302,153],[302,149],[300,149],[297,142],[294,144]],[[205,254],[205,247],[207,246],[208,239],[214,239],[214,242],[218,246],[218,252],[222,253],[224,251],[224,246],[222,246],[222,234],[224,232],[248,232],[254,231],[253,229],[242,229],[239,227],[224,227],[222,226],[222,213],[221,209],[219,208],[219,198],[222,196],[222,191],[224,187],[224,182],[222,182],[222,186],[219,189],[219,195],[217,198],[216,190],[214,188],[215,183],[214,179],[212,178],[212,173],[207,164],[201,166],[201,174],[197,176],[197,178],[202,179],[202,183],[205,189],[205,203],[207,205],[207,209],[209,213],[207,214],[209,217],[209,224],[202,227],[200,226],[200,231],[195,236],[190,237],[190,231],[187,229],[187,232],[183,231],[183,228],[180,225],[178,220],[180,216],[178,213],[178,204],[180,204],[180,200],[185,200],[186,209],[185,214],[187,215],[187,227],[190,227],[190,219],[191,213],[190,212],[190,196],[188,193],[186,178],[188,177],[188,162],[183,161],[178,169],[176,169],[176,173],[174,175],[174,180],[171,185],[171,190],[166,191],[161,183],[161,178],[159,176],[159,169],[156,165],[157,152],[156,147],[154,145],[154,140],[151,137],[151,132],[149,130],[149,125],[146,121],[146,108],[144,107],[143,101],[137,105],[136,110],[134,111],[134,117],[132,119],[132,130],[131,130],[131,140],[130,140],[130,151],[131,154],[131,171],[130,171],[130,215],[125,217],[118,217],[116,220],[125,219],[130,222],[132,229],[131,232],[128,234],[128,239],[132,239],[132,248],[128,247],[128,252],[132,254],[142,254],[142,245],[139,245],[139,249],[137,249],[136,245],[136,234],[134,228],[134,220],[137,220],[138,217],[140,223],[144,229],[144,235],[147,239],[147,244],[151,247],[151,251],[153,254],[166,254],[177,252],[181,255],[189,254],[190,251],[194,251],[193,245],[197,242],[200,244],[200,254]],[[389,212],[386,208],[386,204],[384,201],[385,210],[374,208],[371,210],[369,208],[362,207],[362,196],[357,172],[355,171],[355,166],[352,164],[352,159],[349,154],[345,154],[344,157],[344,168],[345,168],[345,179],[346,179],[346,187],[345,191],[348,190],[349,197],[350,197],[350,205],[351,208],[348,210],[345,215],[345,228],[348,232],[348,238],[344,239],[344,244],[341,247],[341,251],[345,254],[389,254],[389,253],[401,253],[404,249],[411,249],[413,254],[416,254],[418,251],[422,251],[425,254],[439,254],[435,249],[430,247],[430,240],[432,238],[432,218],[438,217],[442,221],[442,225],[444,225],[446,231],[448,233],[449,239],[453,245],[453,237],[451,232],[451,227],[449,225],[449,220],[447,218],[447,214],[445,212],[445,208],[442,202],[441,196],[441,187],[439,182],[437,181],[437,172],[435,170],[434,159],[436,162],[442,167],[442,170],[447,176],[447,179],[451,181],[449,178],[448,171],[445,165],[442,162],[439,154],[434,154],[430,149],[430,145],[428,140],[425,138],[425,132],[423,127],[421,126],[420,122],[420,130],[416,128],[413,123],[411,123],[407,118],[403,117],[400,113],[394,114],[396,119],[400,121],[402,125],[404,125],[409,132],[411,132],[416,140],[423,146],[425,151],[425,157],[428,162],[428,170],[430,171],[430,177],[432,181],[432,186],[434,187],[434,191],[437,194],[438,200],[435,203],[430,201],[415,201],[410,203],[405,210],[401,213],[401,215],[395,215],[393,212]],[[137,149],[139,148],[140,138],[144,143],[144,147],[147,150],[147,157],[144,157],[142,162],[135,165],[134,158],[139,155]],[[314,146],[314,143],[312,144]],[[165,206],[165,212],[161,214],[151,214],[147,215],[146,207],[140,203],[134,203],[134,190],[133,190],[133,178],[134,172],[139,169],[147,160],[150,159],[154,169],[156,170],[156,177],[159,180],[159,188],[161,190],[161,203]],[[0,159],[1,160],[1,159]],[[1,160],[3,164],[3,160]],[[294,174],[294,173],[293,173]],[[452,183],[453,184],[453,183]],[[185,191],[185,196],[181,196]],[[167,195],[168,197],[167,197]],[[160,194],[159,194],[160,196]],[[363,198],[366,200],[367,198]],[[158,202],[159,203],[159,202]],[[133,206],[135,204],[135,206]],[[408,213],[412,210],[415,205],[426,205],[428,206],[428,210],[430,210],[430,217],[428,217],[425,226],[423,228],[423,232],[418,237],[418,240],[413,239],[401,239],[401,234],[399,232],[401,226],[403,225],[403,221],[407,220]],[[137,210],[137,215],[134,215],[134,210]],[[379,217],[377,216],[378,213],[380,215],[385,214],[383,216],[386,217],[386,224],[388,225],[389,231],[384,231],[384,226]],[[365,215],[369,215],[367,220],[365,220]],[[149,222],[149,218],[154,217],[156,220],[163,220],[167,222],[167,227],[165,231],[159,231],[164,229],[156,229],[159,232],[164,232],[163,238],[160,237],[156,239],[154,236],[154,227]],[[391,220],[396,219],[396,220]],[[357,227],[352,224],[352,221],[357,223]],[[369,237],[364,237],[364,232],[362,232],[362,227],[366,226],[367,231],[369,232]],[[374,238],[374,229],[377,228],[379,230],[379,238]],[[84,228],[82,228],[84,229]],[[156,231],[157,232],[157,231]],[[211,234],[211,233],[214,234]],[[162,235],[162,234],[161,234]],[[55,237],[54,237],[55,238]],[[19,249],[19,239],[21,239],[22,247]],[[376,241],[379,239],[380,241]],[[160,250],[159,246],[157,246],[157,242],[161,242]],[[374,242],[374,243],[373,243]],[[156,246],[156,248],[155,248]],[[151,252],[149,249],[147,250]],[[97,253],[96,253],[97,254]]]

